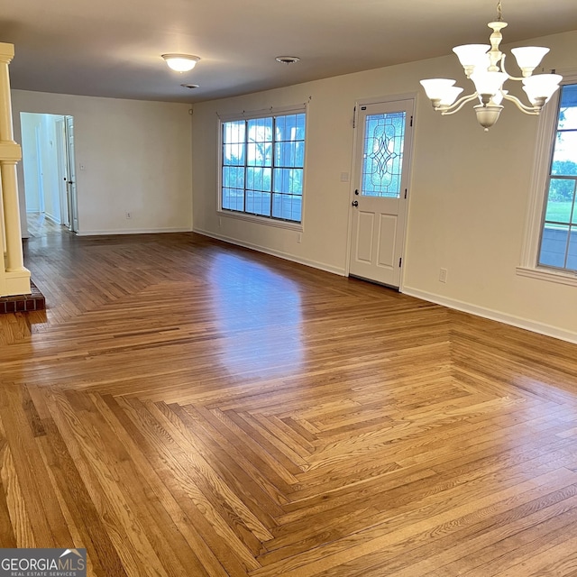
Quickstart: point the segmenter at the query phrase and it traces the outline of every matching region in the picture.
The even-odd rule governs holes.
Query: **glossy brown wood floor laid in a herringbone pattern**
[[[577,576],[577,346],[196,234],[26,243],[0,544],[88,574]]]

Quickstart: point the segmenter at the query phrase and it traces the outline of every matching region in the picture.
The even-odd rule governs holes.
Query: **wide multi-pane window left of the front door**
[[[221,209],[302,221],[306,114],[222,123]]]

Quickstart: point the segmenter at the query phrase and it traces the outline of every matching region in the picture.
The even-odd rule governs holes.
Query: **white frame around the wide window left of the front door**
[[[223,208],[223,125],[225,123],[234,121],[248,121],[258,118],[273,118],[276,116],[286,116],[290,114],[305,114],[305,151],[304,151],[304,161],[303,161],[303,186],[302,186],[302,201],[301,201],[301,213],[300,221],[291,221],[281,219],[275,216],[268,215],[254,215],[252,213],[246,213],[239,210]],[[274,121],[273,121],[274,122]],[[259,224],[268,224],[269,226],[274,226],[277,228],[288,228],[290,230],[295,230],[302,232],[304,230],[305,222],[305,188],[306,188],[306,165],[307,165],[307,138],[308,138],[308,106],[307,104],[301,105],[291,105],[282,106],[279,108],[265,108],[263,110],[256,111],[243,111],[242,113],[233,114],[218,114],[218,160],[217,160],[217,206],[216,212],[218,216],[225,216],[228,218],[235,218],[238,220],[249,221]],[[274,150],[274,140],[273,140],[273,150]],[[245,160],[246,167],[246,160]],[[272,161],[271,169],[274,169],[274,157]],[[246,188],[244,188],[246,190]],[[271,190],[272,194],[272,190]]]

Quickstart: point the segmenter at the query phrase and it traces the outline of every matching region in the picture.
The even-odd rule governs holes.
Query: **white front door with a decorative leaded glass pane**
[[[414,100],[358,106],[349,273],[400,286]]]

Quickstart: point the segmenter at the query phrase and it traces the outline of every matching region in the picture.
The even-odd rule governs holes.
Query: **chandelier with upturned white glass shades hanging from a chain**
[[[489,44],[465,44],[455,46],[453,52],[461,62],[465,76],[472,80],[475,92],[468,96],[458,96],[463,88],[453,86],[456,80],[449,78],[428,78],[421,80],[425,88],[426,96],[431,100],[433,108],[441,114],[455,114],[468,102],[479,101],[473,109],[477,114],[477,121],[489,132],[490,127],[497,122],[503,109],[501,102],[508,100],[517,105],[517,108],[525,114],[537,115],[545,103],[554,95],[559,88],[563,77],[559,74],[536,74],[533,71],[539,66],[548,48],[538,46],[526,46],[511,50],[517,66],[521,69],[521,78],[510,76],[505,69],[505,54],[499,50],[499,44],[503,39],[501,30],[507,26],[502,20],[501,3],[497,5],[497,21],[488,24],[493,31],[490,34]],[[523,90],[527,94],[529,105],[523,104],[517,96],[508,94],[503,89],[506,80],[522,82]]]

